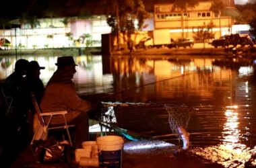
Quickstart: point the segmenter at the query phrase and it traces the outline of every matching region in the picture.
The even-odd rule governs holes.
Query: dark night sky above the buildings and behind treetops
[[[17,19],[26,15],[37,17],[71,17],[97,15],[106,12],[110,0],[7,0],[1,4],[0,18]],[[235,0],[236,3],[256,0]],[[172,0],[143,0],[147,11],[153,11],[154,3],[170,3]]]

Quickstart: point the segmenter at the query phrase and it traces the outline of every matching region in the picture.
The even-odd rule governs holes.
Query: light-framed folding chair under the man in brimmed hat
[[[38,106],[38,103],[36,102],[36,98],[34,97],[34,94],[31,93],[30,97],[31,97],[32,103],[34,105],[34,111],[36,112],[36,116],[38,116],[38,120],[39,120],[38,126],[36,128],[36,131],[34,132],[34,136],[33,136],[32,141],[31,141],[30,144],[33,144],[34,140],[39,140],[39,139],[45,140],[48,136],[48,131],[49,130],[65,129],[67,131],[67,136],[69,138],[69,143],[70,143],[71,146],[73,146],[71,136],[70,136],[70,133],[69,133],[69,127],[73,127],[75,125],[68,125],[67,124],[67,120],[65,118],[65,114],[67,114],[67,111],[44,112],[44,113],[42,113],[39,106]],[[49,117],[49,121],[47,123],[45,123],[44,122],[44,117],[47,117],[47,116]],[[59,126],[59,125],[58,126],[51,126],[51,121],[53,119],[53,116],[63,116],[64,124],[61,125],[61,126]]]

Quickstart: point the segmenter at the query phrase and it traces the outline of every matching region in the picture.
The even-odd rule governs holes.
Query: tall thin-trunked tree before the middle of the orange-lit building
[[[181,37],[182,38],[184,38],[184,14],[186,13],[186,15],[187,15],[188,7],[195,7],[198,4],[199,3],[197,0],[175,0],[174,1],[172,11],[176,11],[177,8],[178,8],[178,10],[181,11],[181,29],[182,29]]]

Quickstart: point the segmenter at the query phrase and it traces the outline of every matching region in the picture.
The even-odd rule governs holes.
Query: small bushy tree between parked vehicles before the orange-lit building
[[[214,28],[214,24],[210,22],[207,25],[203,24],[203,26],[198,26],[196,31],[193,29],[193,38],[195,41],[203,42],[203,48],[205,48],[205,42],[207,40],[214,38],[212,28]]]

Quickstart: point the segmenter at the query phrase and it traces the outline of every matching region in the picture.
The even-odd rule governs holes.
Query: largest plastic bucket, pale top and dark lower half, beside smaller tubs
[[[121,167],[123,138],[121,136],[100,136],[96,140],[100,153],[98,154],[100,167]]]

